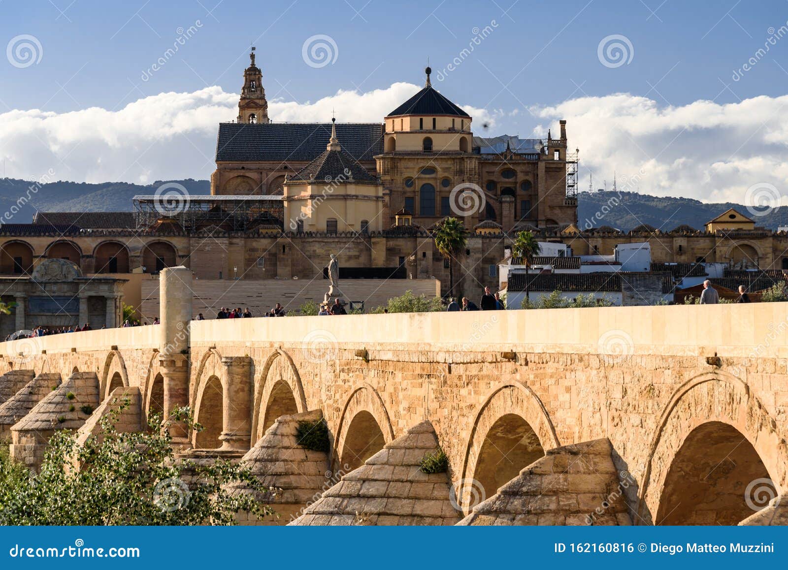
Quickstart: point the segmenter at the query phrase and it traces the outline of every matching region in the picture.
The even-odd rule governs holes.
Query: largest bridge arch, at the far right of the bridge
[[[735,376],[683,383],[657,424],[636,524],[736,524],[753,514],[750,483],[770,480],[776,492],[786,485],[788,450],[776,427]]]

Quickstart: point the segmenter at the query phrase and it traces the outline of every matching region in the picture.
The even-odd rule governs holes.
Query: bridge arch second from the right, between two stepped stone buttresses
[[[560,445],[545,405],[522,383],[505,383],[485,398],[474,419],[463,462],[461,502],[471,494],[485,498],[513,479],[522,468]],[[470,512],[474,505],[463,504]]]

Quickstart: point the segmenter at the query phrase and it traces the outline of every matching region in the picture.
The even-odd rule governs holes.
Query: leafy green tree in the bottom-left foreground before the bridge
[[[75,433],[56,432],[38,474],[28,475],[0,454],[0,524],[234,524],[240,510],[273,514],[254,498],[270,489],[247,468],[225,460],[196,465],[176,459],[158,417],[151,418],[148,431],[118,432],[114,424],[128,399],[116,403],[119,409],[100,421],[101,437],[79,445]],[[176,410],[175,419],[199,429],[188,409]],[[238,483],[253,492],[226,487]]]

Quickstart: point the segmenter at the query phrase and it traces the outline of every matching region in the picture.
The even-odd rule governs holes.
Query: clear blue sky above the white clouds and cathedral
[[[32,35],[40,45],[40,50],[35,47],[40,61],[14,66],[0,59],[0,113],[39,109],[62,115],[92,107],[117,112],[165,92],[195,93],[210,86],[221,87],[223,94],[235,94],[247,65],[248,46],[254,41],[269,100],[306,105],[337,91],[363,94],[386,90],[397,82],[420,85],[429,57],[433,83],[440,91],[459,105],[485,109],[480,117],[492,117],[487,131],[476,121],[477,134],[529,136],[534,129],[538,134],[554,124],[556,113],[574,117],[571,113],[577,112],[578,120],[589,115],[591,103],[578,110],[577,105],[567,107],[567,100],[608,97],[605,102],[610,103],[611,94],[624,93],[630,101],[648,100],[658,112],[684,108],[691,115],[693,108],[688,105],[698,101],[713,101],[724,109],[724,105],[761,95],[781,98],[788,85],[788,38],[776,40],[768,54],[738,80],[732,76],[775,33],[770,28],[779,29],[788,25],[786,21],[788,2],[776,1],[225,0],[217,4],[217,0],[5,0],[0,2],[0,47],[19,35]],[[179,31],[190,27],[195,30],[193,37],[143,80],[146,70],[176,43]],[[474,46],[472,54],[462,56],[474,31],[485,27],[489,35]],[[329,65],[315,68],[304,61],[303,45],[313,35],[328,35],[336,44],[336,50],[332,48],[336,59]],[[600,62],[598,47],[609,35],[626,38],[631,46],[625,46],[631,56],[628,63],[613,67]],[[461,63],[444,80],[436,81],[437,73],[455,57]],[[221,117],[232,120],[232,105],[225,105],[227,111]],[[533,107],[543,110],[534,112]],[[619,107],[597,105],[597,109]],[[287,117],[296,120],[302,115]],[[354,119],[359,117],[349,117]],[[637,113],[633,120],[638,120]],[[570,123],[570,137],[575,124]],[[698,128],[702,130],[702,125],[689,131]],[[757,128],[753,124],[752,131]],[[671,128],[662,130],[670,141]],[[600,144],[589,139],[589,128],[574,133],[580,137],[578,145],[587,149]],[[717,139],[719,143],[715,133],[706,134],[710,142]],[[746,139],[748,133],[729,134],[733,144]],[[0,153],[2,138],[0,132]],[[210,158],[210,143],[198,138],[190,144],[199,147],[201,158]],[[203,148],[204,144],[208,146]],[[20,174],[33,176],[24,161],[12,156],[12,150],[6,151],[6,161],[18,167]],[[658,152],[644,149],[644,156],[637,160],[622,158],[619,168],[634,169],[634,163],[649,162]],[[600,163],[610,161],[609,156],[588,156],[589,168],[615,168]],[[194,177],[210,174],[210,165],[203,162],[195,167]],[[148,170],[155,168],[151,165]],[[186,169],[186,165],[181,168]],[[69,170],[72,178],[82,172],[73,166]],[[128,176],[127,172],[117,176],[121,174]],[[189,172],[162,172],[162,176],[151,172],[148,176],[177,174],[188,176]],[[99,174],[84,174],[86,180],[95,176]],[[144,180],[139,173],[131,178]],[[656,191],[653,182],[650,187]]]

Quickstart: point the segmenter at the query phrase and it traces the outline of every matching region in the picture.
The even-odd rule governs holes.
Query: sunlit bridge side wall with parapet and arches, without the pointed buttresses
[[[753,481],[788,490],[785,303],[178,328],[188,287],[162,294],[165,305],[169,295],[169,324],[28,339],[25,356],[0,343],[0,372],[56,372],[64,383],[94,372],[101,400],[119,376],[145,410],[189,404],[206,430],[180,443],[203,455],[241,457],[278,417],[320,410],[333,472],[429,420],[450,480],[487,498],[547,450],[609,439],[634,524],[733,524],[754,512],[742,506]],[[478,502],[459,501],[465,513]]]

